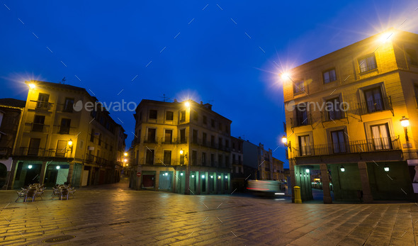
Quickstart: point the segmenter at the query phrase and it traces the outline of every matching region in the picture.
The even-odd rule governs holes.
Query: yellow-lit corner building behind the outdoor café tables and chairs
[[[26,84],[29,91],[13,148],[9,188],[118,181],[126,135],[97,99],[69,84]]]

